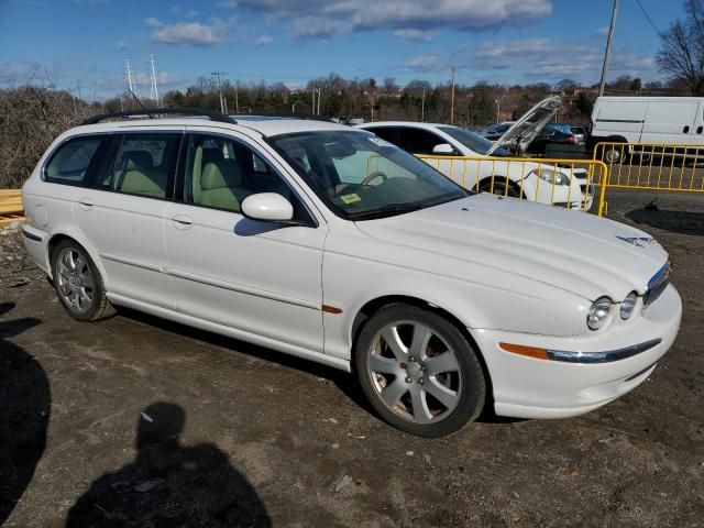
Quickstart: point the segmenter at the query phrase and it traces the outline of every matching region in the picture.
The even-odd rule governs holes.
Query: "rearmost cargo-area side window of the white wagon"
[[[107,136],[75,138],[62,144],[44,168],[44,179],[54,184],[81,185],[88,180]]]

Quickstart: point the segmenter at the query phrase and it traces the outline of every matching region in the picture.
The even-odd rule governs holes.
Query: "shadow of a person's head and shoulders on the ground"
[[[94,482],[66,527],[271,527],[256,492],[217,446],[179,442],[184,424],[178,405],[144,409],[136,459]]]

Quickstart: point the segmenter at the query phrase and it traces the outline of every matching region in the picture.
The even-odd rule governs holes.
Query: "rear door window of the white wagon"
[[[98,186],[128,195],[166,198],[180,136],[180,133],[125,134],[114,163],[105,168]]]

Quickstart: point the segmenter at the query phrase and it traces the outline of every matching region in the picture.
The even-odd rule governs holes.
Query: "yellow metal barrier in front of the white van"
[[[609,188],[704,193],[704,145],[605,142],[593,158],[608,166]]]

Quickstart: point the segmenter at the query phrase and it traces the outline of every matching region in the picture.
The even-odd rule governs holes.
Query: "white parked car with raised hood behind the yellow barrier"
[[[534,127],[542,128],[544,124],[541,122],[542,113],[540,119],[531,119],[531,116],[540,111],[538,107],[534,110],[532,114],[529,112],[521,121],[514,123],[495,143],[466,129],[439,123],[381,121],[360,124],[358,128],[374,132],[411,154],[450,156],[447,160],[440,158],[435,166],[446,176],[461,176],[463,182],[460,183],[469,189],[525,197],[531,201],[575,211],[588,210],[594,200],[594,186],[588,180],[586,169],[502,160],[512,156],[502,144],[516,144],[516,139],[521,138],[519,142],[525,148],[538,133]],[[530,127],[520,128],[522,122]],[[452,161],[451,156],[469,156],[474,160],[461,165],[460,162]],[[491,163],[479,163],[477,160],[491,160]]]

